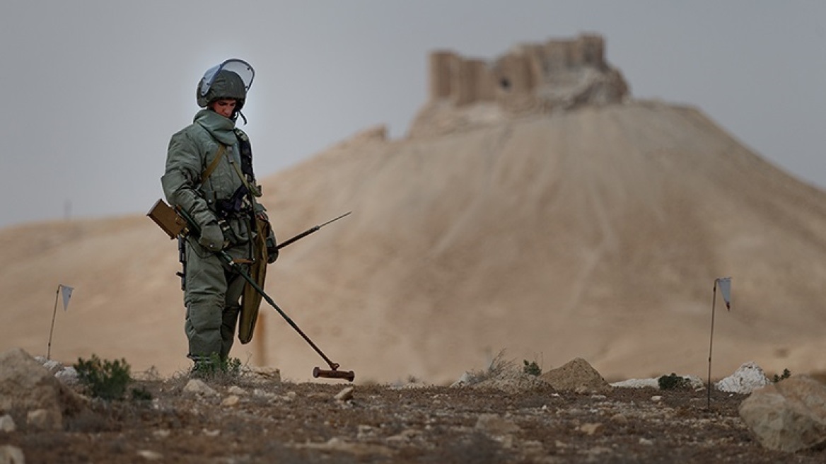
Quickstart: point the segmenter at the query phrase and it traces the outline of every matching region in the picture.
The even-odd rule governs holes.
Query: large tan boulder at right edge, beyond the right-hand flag
[[[826,386],[809,376],[753,391],[739,414],[764,447],[797,452],[826,444]]]

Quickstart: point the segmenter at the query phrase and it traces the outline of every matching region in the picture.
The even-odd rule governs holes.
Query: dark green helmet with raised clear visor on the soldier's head
[[[247,91],[252,87],[255,71],[241,59],[227,59],[225,62],[207,69],[198,81],[195,94],[198,107],[206,108],[211,102],[221,98],[238,101],[235,111],[244,107]]]

